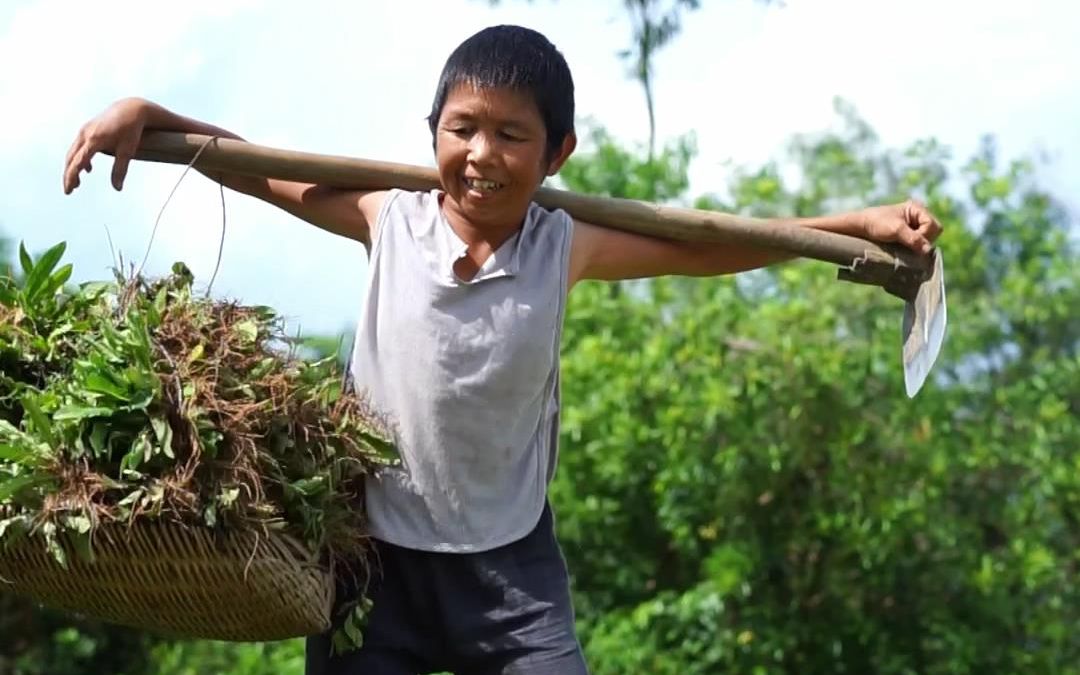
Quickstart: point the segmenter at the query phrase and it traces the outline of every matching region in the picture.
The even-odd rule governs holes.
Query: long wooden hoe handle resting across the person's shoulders
[[[212,139],[210,136],[175,132],[147,132],[135,158],[187,164],[201,148],[202,153],[194,167],[203,171],[352,189],[429,190],[440,185],[438,175],[432,168],[282,150],[242,140]],[[535,199],[545,208],[563,208],[575,218],[602,227],[663,239],[753,244],[849,269],[868,267],[876,270],[875,274],[865,279],[853,279],[850,273],[843,275],[851,281],[888,286],[893,275],[921,281],[931,269],[930,258],[917,256],[900,245],[882,246],[854,237],[759,218],[592,197],[552,188],[541,188]]]

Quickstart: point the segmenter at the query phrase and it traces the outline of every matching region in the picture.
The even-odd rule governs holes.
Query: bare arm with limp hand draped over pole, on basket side
[[[138,148],[145,130],[204,134],[221,138],[240,136],[205,122],[186,118],[141,98],[124,98],[86,122],[68,150],[64,168],[64,192],[79,187],[79,174],[90,173],[91,160],[98,152],[110,152],[112,187],[123,187],[127,165]],[[384,192],[341,190],[326,186],[258,178],[238,174],[202,172],[221,185],[257,197],[328,232],[348,237],[367,245],[370,227],[382,206]]]

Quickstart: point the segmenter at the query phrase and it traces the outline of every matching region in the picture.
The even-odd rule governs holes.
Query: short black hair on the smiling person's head
[[[443,66],[428,125],[432,141],[446,98],[455,86],[505,87],[530,94],[548,132],[553,156],[573,133],[573,78],[566,58],[543,35],[521,26],[491,26],[462,42]]]

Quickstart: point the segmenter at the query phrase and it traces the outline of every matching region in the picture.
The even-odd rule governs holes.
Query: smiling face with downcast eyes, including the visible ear
[[[459,84],[435,132],[446,206],[476,227],[516,227],[544,176],[559,170],[575,143],[571,134],[555,157],[546,157],[546,130],[528,93]]]

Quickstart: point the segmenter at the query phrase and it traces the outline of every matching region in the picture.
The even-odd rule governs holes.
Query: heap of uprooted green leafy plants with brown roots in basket
[[[0,278],[0,545],[106,523],[278,530],[326,562],[365,545],[361,480],[396,461],[387,424],[305,361],[270,308],[164,279],[65,289],[65,245]]]

